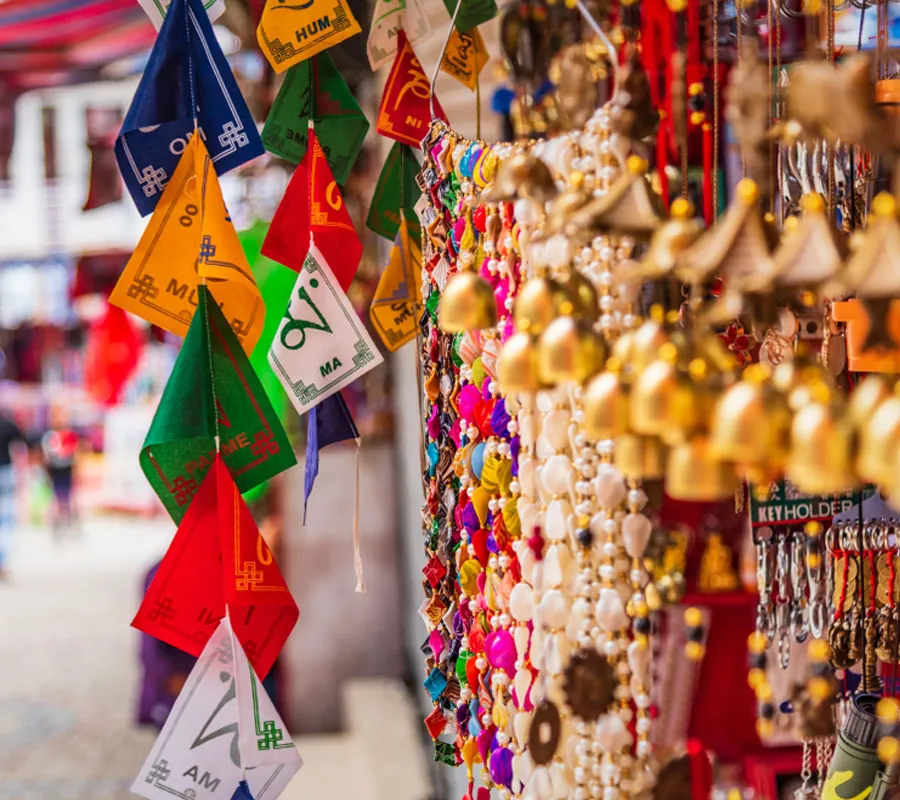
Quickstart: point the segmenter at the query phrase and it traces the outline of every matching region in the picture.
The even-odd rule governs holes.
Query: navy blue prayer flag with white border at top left
[[[172,0],[116,139],[141,216],[156,207],[198,130],[219,175],[264,152],[201,0]]]

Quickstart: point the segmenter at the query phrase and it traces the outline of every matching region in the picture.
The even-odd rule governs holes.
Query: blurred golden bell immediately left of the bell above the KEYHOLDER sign
[[[780,472],[790,445],[791,412],[768,377],[761,365],[748,367],[743,380],[719,398],[710,432],[714,455],[757,476],[767,465],[774,467],[767,472]]]

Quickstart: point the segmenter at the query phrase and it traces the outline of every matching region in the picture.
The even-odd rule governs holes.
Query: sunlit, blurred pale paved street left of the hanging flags
[[[125,800],[154,740],[132,724],[129,626],[167,521],[105,517],[54,547],[21,530],[0,582],[0,799]]]

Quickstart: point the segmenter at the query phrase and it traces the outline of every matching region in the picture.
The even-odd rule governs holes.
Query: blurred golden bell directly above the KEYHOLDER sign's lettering
[[[838,494],[857,485],[852,469],[853,426],[827,398],[794,414],[785,472],[807,494]]]

